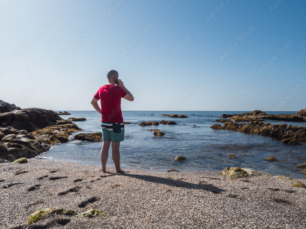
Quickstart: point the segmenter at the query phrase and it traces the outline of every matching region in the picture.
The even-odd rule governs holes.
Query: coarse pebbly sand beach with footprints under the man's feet
[[[10,187],[1,179],[2,228],[306,228],[306,189],[290,186],[306,179],[229,178],[220,171],[118,174],[114,167],[102,174],[98,166],[35,158],[8,164]],[[107,216],[43,214],[27,224],[36,210],[54,207]]]

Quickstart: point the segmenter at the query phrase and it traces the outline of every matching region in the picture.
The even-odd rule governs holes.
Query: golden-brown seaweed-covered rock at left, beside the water
[[[32,135],[37,140],[41,140],[47,144],[68,142],[68,136],[72,135],[72,132],[78,132],[82,130],[70,120],[69,122],[69,124],[65,125],[53,125],[43,129],[35,130],[32,132]]]

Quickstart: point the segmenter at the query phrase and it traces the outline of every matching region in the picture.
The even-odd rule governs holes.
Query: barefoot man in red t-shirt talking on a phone
[[[117,173],[129,172],[120,168],[120,142],[124,141],[124,124],[121,112],[121,98],[133,101],[132,93],[118,79],[119,74],[115,70],[107,72],[108,84],[99,88],[91,100],[92,106],[102,115],[101,128],[103,145],[101,149],[102,173],[106,173],[108,150],[112,144],[112,157]],[[115,82],[115,80],[117,82]],[[117,85],[118,86],[117,86]],[[98,101],[101,100],[101,109]]]

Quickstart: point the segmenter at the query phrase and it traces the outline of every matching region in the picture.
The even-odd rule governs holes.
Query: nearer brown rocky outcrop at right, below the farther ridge
[[[242,124],[226,122],[224,125],[214,124],[210,128],[234,130],[242,133],[257,133],[279,139],[293,138],[301,141],[306,140],[306,127],[298,125],[270,124],[257,121]]]

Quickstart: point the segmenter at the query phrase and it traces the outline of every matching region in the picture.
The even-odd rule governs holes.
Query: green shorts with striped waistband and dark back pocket
[[[118,122],[101,122],[103,141],[124,141],[124,124]]]

